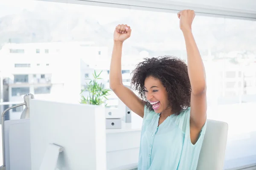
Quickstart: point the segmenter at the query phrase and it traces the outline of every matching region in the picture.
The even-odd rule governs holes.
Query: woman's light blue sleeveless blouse
[[[159,127],[160,113],[144,108],[138,170],[196,170],[206,123],[198,141],[190,140],[190,108],[168,116]]]

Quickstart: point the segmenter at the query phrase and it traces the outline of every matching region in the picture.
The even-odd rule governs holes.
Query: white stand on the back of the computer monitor
[[[41,163],[40,170],[55,170],[59,153],[62,151],[63,147],[50,143],[44,154],[44,159]]]

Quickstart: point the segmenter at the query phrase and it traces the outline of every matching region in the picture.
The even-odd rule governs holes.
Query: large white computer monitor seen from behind
[[[49,144],[63,147],[59,170],[106,170],[103,107],[31,99],[30,134],[31,170],[40,170]]]

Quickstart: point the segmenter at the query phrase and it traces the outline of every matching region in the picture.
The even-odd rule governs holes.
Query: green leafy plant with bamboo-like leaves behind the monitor
[[[110,95],[108,89],[104,89],[102,83],[99,84],[97,80],[102,79],[100,78],[100,74],[102,71],[97,75],[96,71],[94,70],[93,77],[94,79],[89,79],[89,83],[87,84],[87,87],[81,91],[81,103],[82,104],[89,104],[89,105],[104,105],[105,107],[108,107],[106,104],[106,100],[108,100],[107,96]],[[88,91],[89,95],[85,98],[82,93],[84,91]]]

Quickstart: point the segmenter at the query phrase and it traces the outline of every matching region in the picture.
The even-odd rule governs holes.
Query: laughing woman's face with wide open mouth
[[[162,113],[169,108],[166,88],[159,79],[149,76],[145,79],[144,85],[145,96],[156,113]]]

